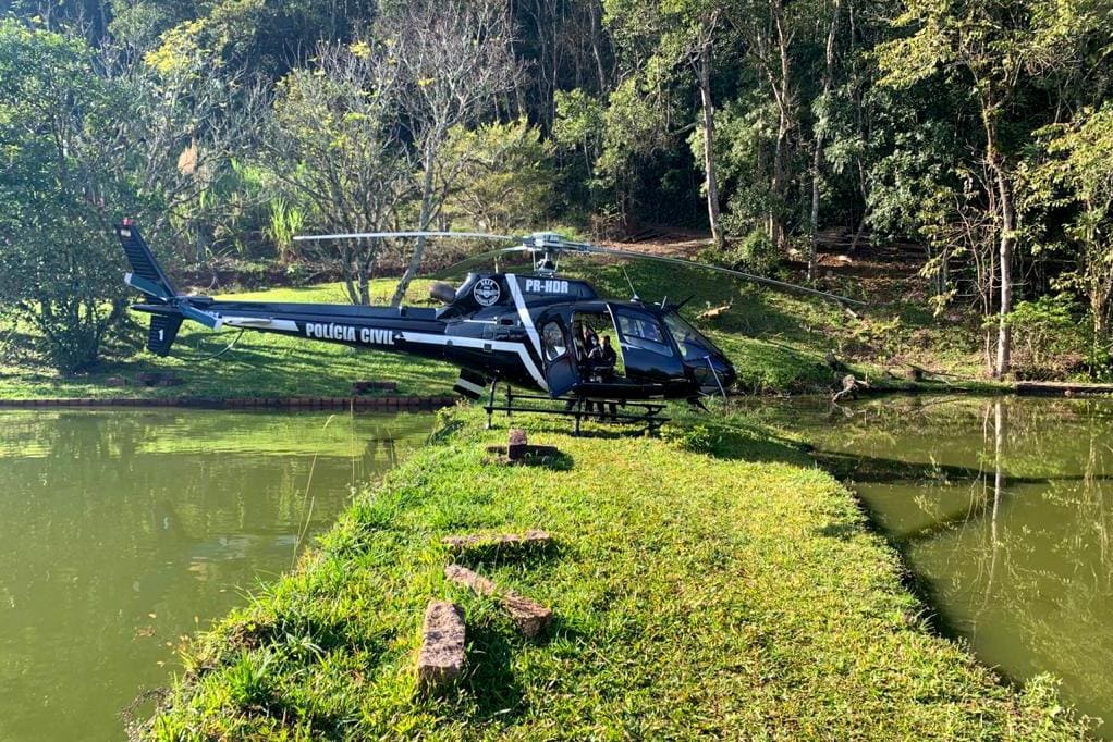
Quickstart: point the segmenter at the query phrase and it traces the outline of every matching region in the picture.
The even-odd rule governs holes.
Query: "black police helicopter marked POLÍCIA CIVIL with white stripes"
[[[598,405],[602,413],[605,404],[610,410],[608,417],[614,421],[660,424],[663,400],[701,404],[701,397],[707,395],[726,396],[737,373],[726,354],[680,316],[683,301],[647,303],[637,291],[629,300],[602,298],[588,281],[559,273],[563,256],[658,260],[844,304],[861,304],[730,268],[567,240],[553,233],[512,237],[451,231],[359,233],[297,239],[499,240],[513,245],[483,253],[446,270],[512,254],[529,255],[532,270],[469,273],[459,287],[436,283],[431,294],[441,303],[439,308],[232,301],[179,294],[135,224],[125,220],[116,227],[116,233],[131,266],[125,281],[147,296],[144,304],[132,308],[151,315],[147,347],[159,356],[169,354],[186,319],[210,329],[284,333],[356,348],[412,354],[459,367],[454,390],[473,399],[487,396],[489,422],[493,412],[544,412],[574,416],[578,432],[581,418],[590,413],[592,405]],[[615,345],[610,354],[591,353],[593,338],[599,344],[600,338],[609,340],[612,336]],[[496,402],[500,384],[506,388],[504,404]],[[522,389],[528,393],[522,394]],[[550,404],[539,406],[538,400]],[[552,405],[551,400],[564,404]],[[618,407],[622,407],[621,414]]]

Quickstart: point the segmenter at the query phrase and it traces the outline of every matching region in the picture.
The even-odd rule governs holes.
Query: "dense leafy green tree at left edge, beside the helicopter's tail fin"
[[[126,107],[83,42],[0,21],[0,311],[65,373],[97,362],[121,306],[110,224],[137,195],[106,160]]]

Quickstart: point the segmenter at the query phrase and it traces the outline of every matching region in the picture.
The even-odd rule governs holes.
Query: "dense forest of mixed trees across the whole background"
[[[14,0],[0,311],[72,372],[125,304],[110,225],[179,265],[329,265],[393,228],[667,224],[759,273],[907,243],[934,310],[1110,373],[1111,0]],[[825,241],[826,240],[826,241]],[[868,298],[868,297],[864,297]]]

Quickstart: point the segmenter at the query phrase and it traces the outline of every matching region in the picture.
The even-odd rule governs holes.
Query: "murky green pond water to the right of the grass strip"
[[[944,631],[1062,679],[1113,731],[1113,402],[886,398],[766,407],[818,444],[904,552]]]

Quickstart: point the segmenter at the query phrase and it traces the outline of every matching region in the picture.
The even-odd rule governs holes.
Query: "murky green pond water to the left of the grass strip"
[[[0,740],[124,739],[180,635],[287,570],[430,415],[0,412]],[[312,474],[312,481],[311,481]],[[308,493],[308,496],[307,496]]]

